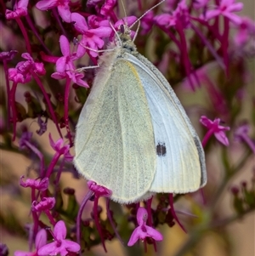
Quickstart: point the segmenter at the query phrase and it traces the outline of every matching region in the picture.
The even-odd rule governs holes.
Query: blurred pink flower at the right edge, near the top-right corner
[[[241,23],[238,24],[238,30],[234,37],[234,42],[238,46],[247,43],[251,37],[255,37],[255,22],[248,17],[241,18]],[[254,41],[253,41],[254,43]]]

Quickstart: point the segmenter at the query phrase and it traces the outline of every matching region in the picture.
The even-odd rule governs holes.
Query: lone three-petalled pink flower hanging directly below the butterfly
[[[146,225],[148,219],[148,213],[145,208],[139,208],[137,215],[138,227],[133,230],[133,233],[127,242],[127,246],[133,246],[139,239],[144,240],[146,237],[151,237],[156,241],[163,240],[163,236],[161,233],[152,227]]]

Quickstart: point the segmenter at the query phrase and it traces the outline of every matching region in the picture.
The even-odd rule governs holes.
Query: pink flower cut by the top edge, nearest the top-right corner
[[[216,9],[207,10],[205,17],[207,20],[211,20],[221,14],[235,24],[240,24],[241,17],[233,14],[233,12],[239,12],[242,8],[243,3],[235,3],[235,0],[221,0]]]

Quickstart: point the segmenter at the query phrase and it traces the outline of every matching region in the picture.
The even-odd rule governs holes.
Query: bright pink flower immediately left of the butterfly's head
[[[86,47],[92,49],[88,49],[91,56],[97,57],[98,53],[96,51],[98,51],[99,48],[102,48],[105,44],[102,38],[109,37],[111,35],[111,28],[98,27],[95,29],[88,29],[88,25],[84,17],[77,13],[71,14],[71,22],[75,23],[75,29],[82,34],[82,40],[77,48],[77,57],[80,58],[86,53]]]

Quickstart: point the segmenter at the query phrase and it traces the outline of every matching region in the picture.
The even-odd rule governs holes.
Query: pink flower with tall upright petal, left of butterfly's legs
[[[67,38],[63,35],[60,36],[59,44],[63,57],[60,57],[59,60],[57,60],[57,72],[54,72],[51,77],[54,79],[64,79],[67,76],[78,85],[88,88],[88,83],[82,80],[84,75],[76,71],[76,67],[73,62],[77,60],[78,57],[77,54],[71,54],[70,45]]]

